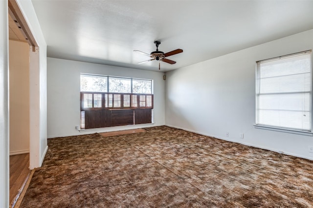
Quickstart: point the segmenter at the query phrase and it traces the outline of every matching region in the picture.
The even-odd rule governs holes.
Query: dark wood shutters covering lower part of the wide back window
[[[81,128],[149,124],[152,108],[152,94],[81,92]]]

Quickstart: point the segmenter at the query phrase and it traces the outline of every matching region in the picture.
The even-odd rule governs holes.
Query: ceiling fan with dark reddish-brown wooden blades
[[[149,60],[147,60],[147,61],[139,62],[138,64],[145,63],[145,62],[151,62],[151,61],[153,61],[153,60],[156,60],[156,61],[159,61],[159,62],[158,62],[158,70],[160,70],[160,62],[161,62],[161,61],[162,61],[162,62],[167,62],[167,63],[170,63],[170,64],[176,63],[176,62],[174,62],[174,61],[172,61],[172,60],[165,59],[165,57],[173,56],[173,55],[175,55],[175,54],[178,54],[178,53],[183,52],[182,49],[176,49],[176,50],[174,50],[174,51],[170,51],[170,52],[164,53],[164,52],[158,50],[158,46],[159,46],[159,44],[161,44],[161,42],[155,41],[155,44],[156,44],[156,51],[153,51],[153,52],[151,52],[150,54],[147,54],[147,53],[142,52],[142,51],[134,50],[134,52],[143,54],[143,55],[145,55],[145,56],[149,56],[149,57],[151,58],[151,59],[149,59]]]

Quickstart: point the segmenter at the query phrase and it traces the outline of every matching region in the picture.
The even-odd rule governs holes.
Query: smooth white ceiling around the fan
[[[313,29],[313,0],[32,0],[47,56],[169,71]]]

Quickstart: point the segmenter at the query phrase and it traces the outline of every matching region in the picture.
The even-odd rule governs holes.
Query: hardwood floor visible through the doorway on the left
[[[29,170],[29,153],[10,156],[10,207],[15,205],[31,170]]]

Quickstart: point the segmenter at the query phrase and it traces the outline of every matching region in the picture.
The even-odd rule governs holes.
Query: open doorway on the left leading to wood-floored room
[[[31,171],[30,53],[37,46],[15,0],[9,6],[9,203],[13,208]]]

